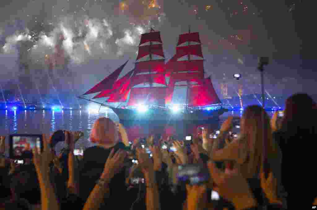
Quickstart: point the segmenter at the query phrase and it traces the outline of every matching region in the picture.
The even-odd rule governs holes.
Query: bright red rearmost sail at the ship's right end
[[[189,106],[205,106],[221,103],[210,77],[203,80],[202,86],[191,86],[189,91]]]

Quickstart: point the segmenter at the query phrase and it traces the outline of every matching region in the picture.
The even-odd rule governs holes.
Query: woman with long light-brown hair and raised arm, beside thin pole
[[[263,122],[265,130],[263,130]],[[224,133],[229,131],[228,128],[223,129],[222,127],[219,136],[225,137]],[[223,149],[214,151],[212,159],[214,161],[234,161],[235,164],[239,164],[244,178],[257,178],[263,164],[263,136],[266,137],[270,165],[275,165],[281,161],[280,149],[273,141],[270,118],[262,107],[257,105],[248,106],[240,120],[240,128],[240,136]],[[279,176],[277,166],[271,167],[271,169],[273,169],[275,177]]]

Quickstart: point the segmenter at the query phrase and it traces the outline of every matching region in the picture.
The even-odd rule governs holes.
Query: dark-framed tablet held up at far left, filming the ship
[[[12,134],[9,137],[11,159],[33,158],[33,149],[43,151],[42,134]]]

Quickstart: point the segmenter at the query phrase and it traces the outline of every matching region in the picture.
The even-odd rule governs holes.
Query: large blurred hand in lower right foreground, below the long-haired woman
[[[223,198],[231,201],[237,210],[257,206],[249,184],[243,178],[239,168],[224,173],[216,167],[213,161],[208,162],[208,168],[213,181],[217,185],[218,193]]]

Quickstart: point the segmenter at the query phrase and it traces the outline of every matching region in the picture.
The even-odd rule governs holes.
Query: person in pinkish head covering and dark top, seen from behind
[[[123,126],[115,124],[109,118],[99,118],[95,121],[90,140],[97,143],[97,146],[87,148],[84,152],[83,159],[75,174],[76,183],[78,183],[78,195],[81,199],[86,200],[93,190],[96,182],[102,183],[100,176],[104,170],[105,163],[111,151],[115,153],[118,150],[125,150],[126,146],[119,141],[119,132],[122,135]],[[126,139],[127,140],[127,139]],[[123,196],[126,193],[125,170],[119,171],[111,179],[109,189],[111,198],[106,199],[103,204],[109,206],[117,205],[118,209],[126,209],[126,203],[114,203],[117,196]],[[131,203],[130,203],[131,204]]]

